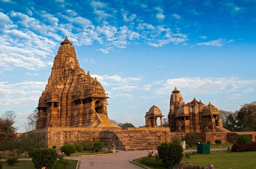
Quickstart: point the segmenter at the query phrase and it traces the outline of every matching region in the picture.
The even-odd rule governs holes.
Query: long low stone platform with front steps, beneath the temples
[[[46,127],[33,132],[42,133],[48,147],[56,145],[60,148],[65,143],[73,144],[77,140],[90,139],[100,141],[105,147],[114,144],[119,150],[135,151],[144,149],[156,149],[160,143],[172,142],[173,139],[181,139],[184,132],[170,132],[169,127],[134,127],[134,128],[106,128],[106,127]],[[200,132],[195,133],[198,139],[205,143],[221,139],[222,143],[236,142],[239,134],[246,134],[251,141],[256,140],[256,132]]]

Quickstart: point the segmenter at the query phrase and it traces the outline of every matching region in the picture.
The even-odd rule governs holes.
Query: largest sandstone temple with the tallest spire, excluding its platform
[[[89,71],[86,74],[79,66],[73,43],[66,37],[54,58],[51,75],[39,99],[36,129],[97,127],[102,125],[99,116],[108,121],[108,94]]]

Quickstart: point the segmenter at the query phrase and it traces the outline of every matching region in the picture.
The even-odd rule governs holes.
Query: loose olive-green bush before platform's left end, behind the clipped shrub
[[[29,132],[27,134],[23,134],[19,137],[19,149],[20,152],[27,152],[29,157],[31,157],[31,153],[36,148],[44,147],[43,136],[40,133]]]

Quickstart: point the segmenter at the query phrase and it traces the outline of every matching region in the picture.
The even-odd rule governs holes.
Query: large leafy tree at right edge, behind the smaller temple
[[[256,101],[241,105],[236,115],[240,131],[256,131]]]

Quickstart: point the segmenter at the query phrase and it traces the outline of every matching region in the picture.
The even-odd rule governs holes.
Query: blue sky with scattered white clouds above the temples
[[[18,132],[38,105],[60,42],[109,94],[108,116],[145,125],[176,86],[236,111],[256,100],[256,0],[0,0],[0,114]]]

